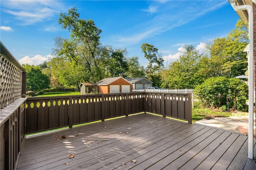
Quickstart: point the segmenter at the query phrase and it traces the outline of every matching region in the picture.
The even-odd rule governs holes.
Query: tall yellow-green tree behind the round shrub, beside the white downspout
[[[227,37],[214,39],[208,45],[210,51],[210,68],[214,75],[239,76],[247,70],[246,53],[243,52],[248,44],[248,31],[241,20],[236,23]]]

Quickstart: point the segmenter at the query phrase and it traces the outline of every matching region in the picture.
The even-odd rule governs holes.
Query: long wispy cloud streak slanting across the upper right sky
[[[154,1],[152,1],[152,3],[154,3]],[[145,20],[145,22],[140,23],[139,25],[130,27],[130,33],[126,32],[125,35],[114,35],[113,37],[119,43],[132,45],[142,41],[143,39],[154,37],[175,27],[180,27],[181,25],[196,20],[200,16],[221,8],[227,3],[228,2],[226,1],[221,1],[221,3],[217,4],[213,4],[211,1],[204,1],[204,3],[194,3],[193,1],[188,1],[186,6],[184,6],[184,1],[168,1],[168,3],[162,4],[158,3],[157,6],[161,10],[157,11],[157,14],[150,21]],[[183,10],[178,8],[180,5],[184,6]],[[147,10],[144,11],[156,13],[156,10],[157,8],[151,5]],[[137,30],[141,31],[138,32]]]

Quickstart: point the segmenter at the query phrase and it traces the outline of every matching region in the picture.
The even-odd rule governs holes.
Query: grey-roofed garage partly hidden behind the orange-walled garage
[[[128,78],[126,79],[133,86],[134,90],[147,89],[148,87],[152,87],[153,82],[141,77],[141,78]]]

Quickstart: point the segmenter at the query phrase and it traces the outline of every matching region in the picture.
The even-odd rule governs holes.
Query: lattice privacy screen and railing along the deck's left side
[[[12,170],[25,137],[26,72],[0,43],[0,169]]]

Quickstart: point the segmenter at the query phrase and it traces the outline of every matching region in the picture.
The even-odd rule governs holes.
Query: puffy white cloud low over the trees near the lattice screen
[[[20,64],[30,64],[30,65],[38,65],[44,63],[44,61],[47,61],[50,59],[52,55],[47,55],[46,57],[42,57],[42,55],[35,55],[34,57],[25,56],[22,59],[19,60]]]

